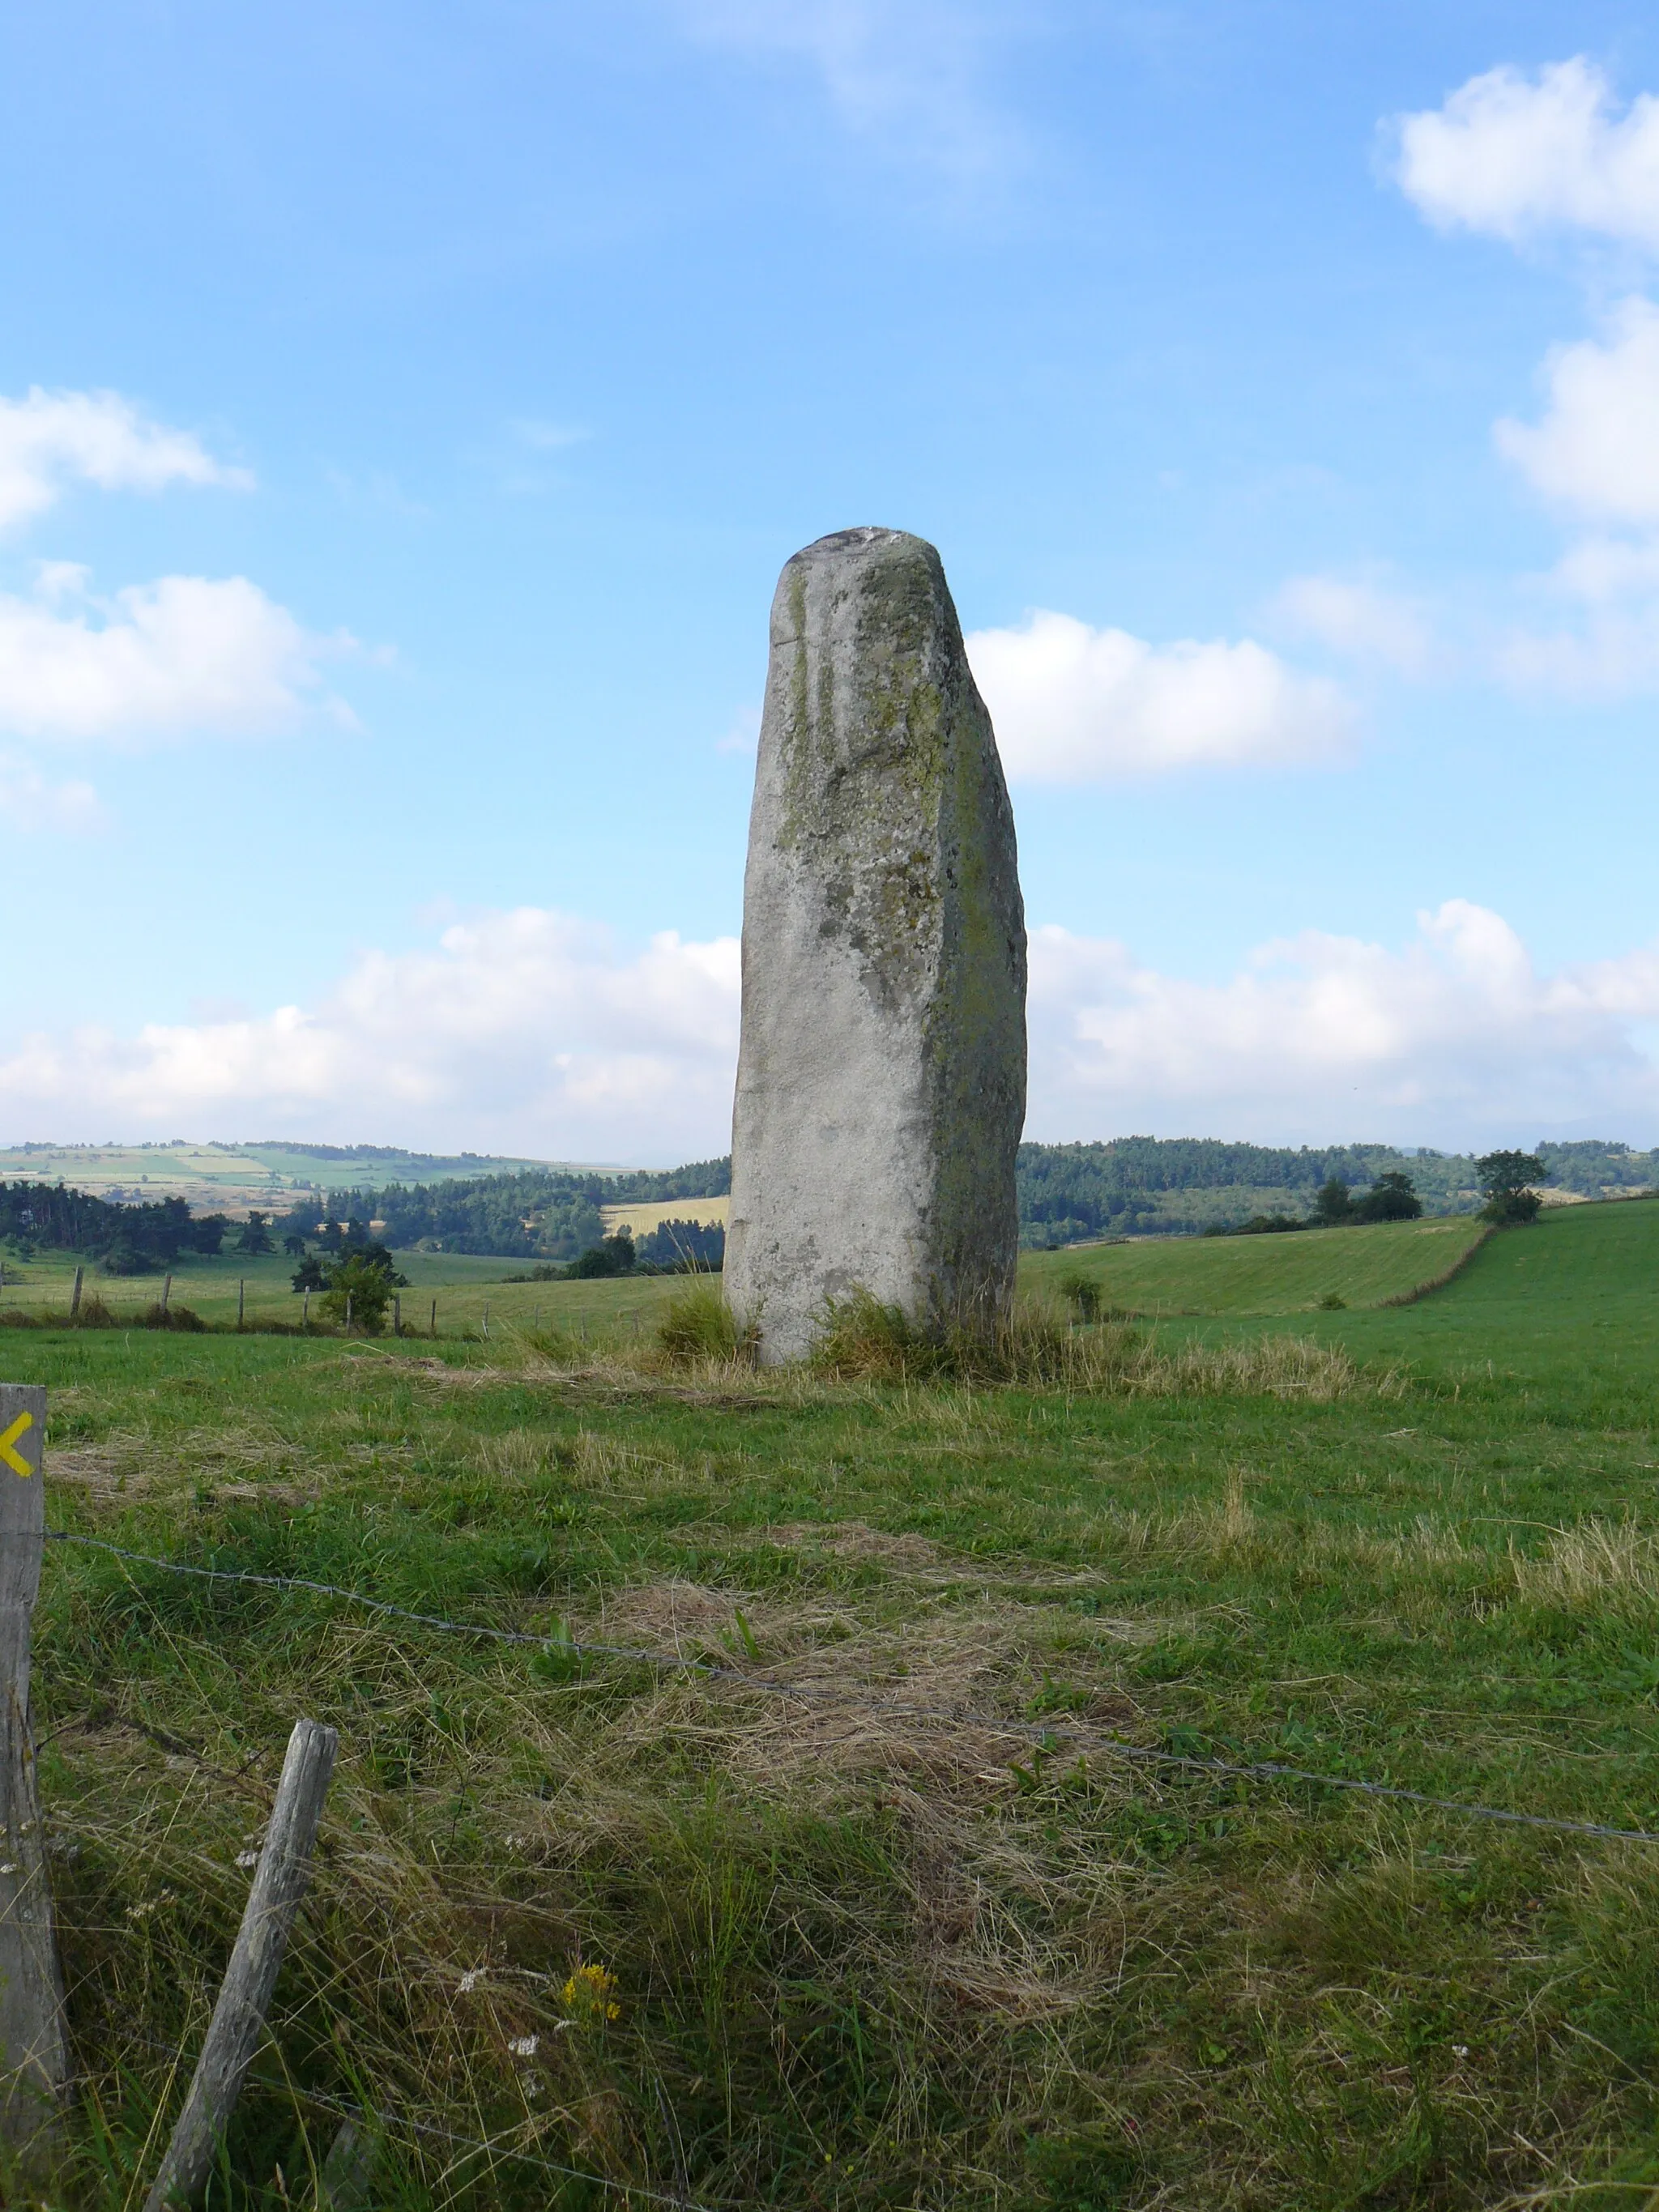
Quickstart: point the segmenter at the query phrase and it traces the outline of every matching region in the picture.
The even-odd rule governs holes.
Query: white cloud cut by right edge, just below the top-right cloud
[[[1544,383],[1544,418],[1500,422],[1498,451],[1548,500],[1659,524],[1659,307],[1626,299],[1606,343],[1551,352]]]

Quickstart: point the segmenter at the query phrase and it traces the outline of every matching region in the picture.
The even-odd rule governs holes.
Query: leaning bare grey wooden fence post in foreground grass
[[[230,2130],[241,2084],[252,2064],[276,1975],[294,1927],[299,1900],[310,1880],[316,1823],[323,1816],[327,1778],[341,1739],[319,1721],[294,1721],[276,1783],[276,1803],[265,1829],[265,1847],[254,1867],[254,1887],[241,1916],[237,1947],[226,1966],[223,1989],[208,2022],[190,2095],[184,2099],[161,2172],[150,2183],[144,2212],[199,2203],[212,2161]]]

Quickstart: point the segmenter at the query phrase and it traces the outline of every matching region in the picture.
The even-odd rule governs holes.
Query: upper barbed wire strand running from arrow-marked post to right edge
[[[628,1644],[586,1644],[573,1637],[535,1635],[524,1628],[493,1628],[487,1621],[451,1621],[440,1613],[414,1613],[409,1606],[394,1606],[383,1597],[365,1597],[361,1590],[347,1590],[336,1582],[310,1582],[303,1575],[257,1575],[250,1568],[186,1566],[181,1559],[157,1559],[153,1553],[126,1551],[122,1544],[111,1544],[95,1535],[77,1535],[71,1528],[46,1528],[46,1542],[80,1544],[88,1551],[104,1551],[117,1559],[128,1559],[135,1566],[161,1568],[166,1575],[190,1575],[201,1582],[246,1582],[268,1590],[310,1590],[316,1597],[341,1597],[352,1606],[363,1606],[367,1613],[389,1615],[398,1621],[416,1621],[420,1628],[438,1628],[447,1635],[487,1637],[493,1644],[518,1644],[546,1652],[568,1652],[573,1659],[630,1659],[635,1666],[690,1670],[712,1681],[730,1681],[743,1690],[759,1690],[768,1697],[787,1697],[801,1703],[852,1705],[865,1712],[889,1712],[902,1719],[936,1721],[945,1728],[984,1728],[991,1734],[1020,1736],[1040,1752],[1053,1747],[1053,1736],[1066,1734],[1077,1743],[1088,1743],[1117,1759],[1170,1767],[1186,1774],[1225,1774],[1237,1781],[1314,1783],[1321,1790],[1347,1790],[1358,1796],[1394,1798],[1405,1805],[1422,1805],[1431,1812],[1458,1814],[1464,1820],[1498,1820],[1506,1827],[1537,1827],[1562,1836],[1601,1836],[1613,1843],[1659,1843],[1659,1832],[1652,1829],[1613,1827],[1604,1820],[1566,1820],[1559,1814],[1544,1812],[1509,1812],[1502,1805],[1469,1805],[1462,1798],[1431,1796],[1425,1790],[1402,1790],[1396,1783],[1374,1783],[1352,1774],[1318,1774],[1312,1767],[1290,1767],[1274,1759],[1230,1761],[1201,1759],[1192,1752],[1159,1752],[1152,1745],[1130,1743],[1126,1736],[1086,1728],[1062,1717],[1037,1723],[998,1719],[987,1712],[949,1712],[938,1705],[911,1705],[902,1699],[858,1697],[847,1690],[781,1681],[776,1674],[750,1674],[741,1666],[723,1666],[719,1659],[688,1657],[686,1652],[641,1650]]]

